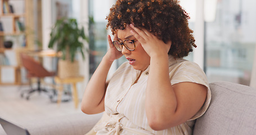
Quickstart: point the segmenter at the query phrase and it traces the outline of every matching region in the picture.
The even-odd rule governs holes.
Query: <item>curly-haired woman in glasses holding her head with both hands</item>
[[[193,62],[189,16],[176,0],[118,0],[108,24],[113,41],[84,91],[81,109],[110,116],[97,134],[192,134],[210,102],[206,76]],[[125,56],[106,80],[114,60]]]

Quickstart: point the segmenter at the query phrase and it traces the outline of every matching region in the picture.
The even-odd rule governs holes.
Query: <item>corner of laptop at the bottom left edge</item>
[[[30,135],[28,130],[0,117],[0,124],[7,135]]]

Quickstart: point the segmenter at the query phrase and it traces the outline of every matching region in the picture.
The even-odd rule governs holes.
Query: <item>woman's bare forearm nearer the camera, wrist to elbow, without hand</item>
[[[155,123],[172,119],[176,112],[177,98],[170,83],[167,54],[151,57],[145,106],[147,118]]]

